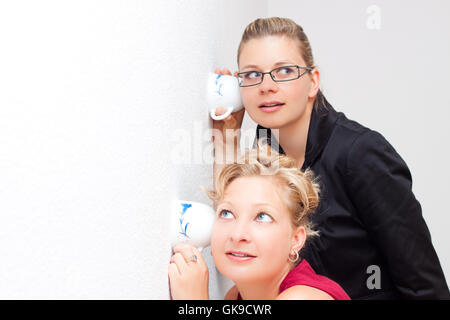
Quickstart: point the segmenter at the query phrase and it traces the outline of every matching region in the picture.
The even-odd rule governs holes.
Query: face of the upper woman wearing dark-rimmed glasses
[[[267,36],[249,40],[241,49],[239,72],[267,72],[283,65],[306,67],[298,41],[284,36]],[[266,74],[259,85],[241,87],[245,109],[256,123],[266,128],[280,129],[299,121],[307,106],[312,108],[319,79],[317,70],[287,82],[274,82]],[[282,107],[272,112],[261,107],[273,103],[281,103]]]

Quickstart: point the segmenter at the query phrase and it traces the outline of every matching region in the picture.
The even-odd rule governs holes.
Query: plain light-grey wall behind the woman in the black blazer
[[[381,132],[408,164],[450,279],[450,3],[445,0],[269,0],[301,25],[330,103]],[[375,11],[379,10],[379,29]],[[373,8],[373,7],[372,7]],[[369,26],[369,27],[368,27]]]

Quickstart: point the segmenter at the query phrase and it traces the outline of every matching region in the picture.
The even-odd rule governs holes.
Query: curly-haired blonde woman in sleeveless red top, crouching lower
[[[349,299],[299,255],[305,241],[317,234],[309,220],[318,204],[310,171],[302,173],[294,160],[261,148],[224,166],[208,195],[217,215],[211,237],[214,263],[235,283],[225,299]],[[187,244],[174,252],[172,297],[208,299],[201,254]]]

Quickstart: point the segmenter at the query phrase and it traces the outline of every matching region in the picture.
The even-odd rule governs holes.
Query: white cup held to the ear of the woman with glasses
[[[234,76],[211,72],[208,75],[206,100],[211,118],[223,120],[232,112],[241,110],[244,106],[238,79]],[[216,108],[223,107],[227,111],[223,115],[216,115]]]

